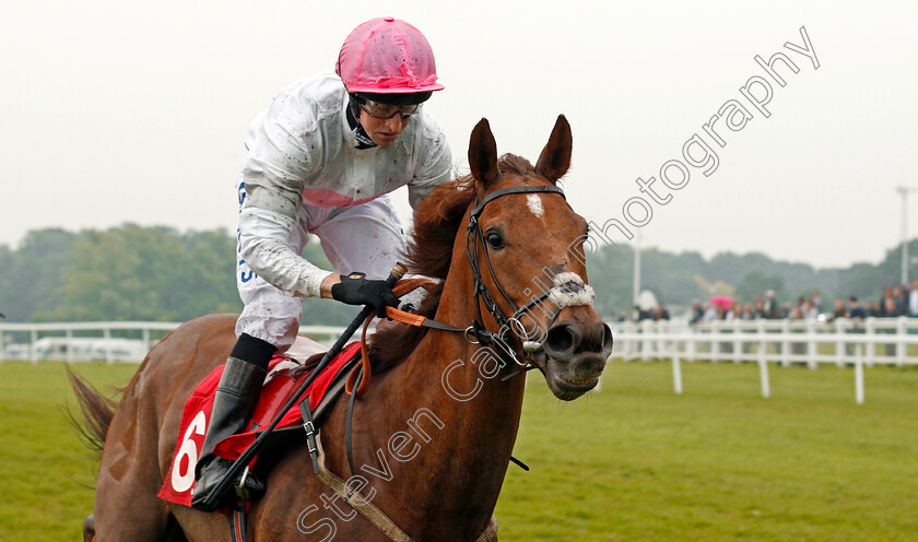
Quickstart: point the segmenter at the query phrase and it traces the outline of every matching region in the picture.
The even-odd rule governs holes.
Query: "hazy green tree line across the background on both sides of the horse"
[[[918,254],[918,240],[910,244]],[[899,247],[878,264],[814,269],[775,261],[760,252],[698,252],[657,249],[642,252],[642,288],[668,305],[706,299],[728,288],[751,301],[774,290],[779,301],[809,296],[879,297],[897,284]],[[5,321],[154,320],[185,321],[211,313],[242,310],[235,282],[235,238],[223,229],[180,233],[170,227],[125,224],[79,233],[59,228],[30,232],[13,250],[0,245],[0,313]],[[325,269],[331,264],[317,239],[303,256]],[[631,308],[634,255],[627,246],[605,246],[589,256],[596,307],[612,317]],[[913,266],[916,268],[916,266]],[[910,276],[918,276],[910,269]],[[303,325],[342,326],[355,309],[325,299],[304,299]]]

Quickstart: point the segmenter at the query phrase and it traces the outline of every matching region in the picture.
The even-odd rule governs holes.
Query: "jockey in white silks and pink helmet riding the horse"
[[[422,107],[442,89],[424,35],[398,19],[374,19],[344,40],[334,73],[282,90],[252,122],[237,231],[245,308],[196,467],[192,507],[209,509],[204,499],[232,464],[213,447],[245,428],[269,360],[296,338],[302,297],[370,305],[377,315],[398,305],[385,279],[405,244],[386,195],[407,185],[416,207],[449,180],[446,136]],[[299,256],[308,234],[321,239],[334,272]],[[264,491],[251,474],[245,485],[250,495]]]

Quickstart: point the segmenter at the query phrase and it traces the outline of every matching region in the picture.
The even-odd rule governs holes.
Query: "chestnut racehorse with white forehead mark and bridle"
[[[493,512],[519,428],[521,374],[538,368],[554,396],[570,401],[598,384],[611,355],[611,330],[587,283],[587,222],[556,186],[572,142],[558,116],[533,166],[498,157],[487,120],[475,126],[470,174],[424,199],[404,255],[411,272],[439,281],[419,313],[464,332],[398,323],[374,334],[372,385],[353,408],[353,463],[345,459],[346,405],[320,429],[328,470],[408,540],[497,540]],[[183,405],[226,358],[234,322],[234,315],[204,316],[166,335],[114,411],[74,381],[102,448],[87,541],[154,542],[175,525],[190,541],[227,537],[224,516],[156,494]],[[256,469],[268,491],[248,510],[251,539],[390,540],[311,472],[305,438],[260,457]]]

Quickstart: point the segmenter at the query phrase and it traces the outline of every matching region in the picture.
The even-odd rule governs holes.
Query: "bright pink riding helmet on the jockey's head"
[[[372,19],[344,40],[334,72],[348,92],[440,91],[434,51],[421,31],[395,17]]]

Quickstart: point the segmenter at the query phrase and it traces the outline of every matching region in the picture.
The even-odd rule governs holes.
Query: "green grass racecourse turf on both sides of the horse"
[[[105,389],[136,365],[80,364]],[[555,400],[530,373],[497,507],[507,541],[918,540],[918,369],[613,363],[603,389]],[[61,409],[61,363],[0,363],[0,541],[81,540],[95,459]]]

